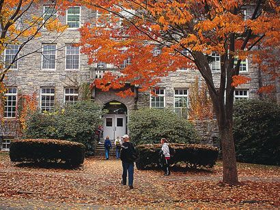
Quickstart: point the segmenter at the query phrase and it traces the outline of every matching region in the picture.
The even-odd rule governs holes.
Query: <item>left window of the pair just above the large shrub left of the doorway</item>
[[[40,109],[50,111],[55,106],[55,88],[41,87],[40,90]]]

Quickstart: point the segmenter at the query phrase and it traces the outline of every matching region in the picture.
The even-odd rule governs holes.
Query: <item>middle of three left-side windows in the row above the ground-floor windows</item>
[[[56,44],[43,44],[42,45],[42,69],[55,70],[57,54]]]

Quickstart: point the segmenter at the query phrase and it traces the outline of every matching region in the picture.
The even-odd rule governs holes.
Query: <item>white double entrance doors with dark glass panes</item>
[[[105,115],[104,116],[103,138],[109,136],[110,139],[120,138],[126,134],[126,115]]]

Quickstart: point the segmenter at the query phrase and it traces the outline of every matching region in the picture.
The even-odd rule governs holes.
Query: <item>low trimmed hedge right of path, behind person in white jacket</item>
[[[170,164],[184,162],[189,168],[212,168],[218,159],[219,149],[208,145],[169,144],[175,149]],[[136,147],[139,158],[138,169],[154,168],[159,165],[160,144],[139,145]]]

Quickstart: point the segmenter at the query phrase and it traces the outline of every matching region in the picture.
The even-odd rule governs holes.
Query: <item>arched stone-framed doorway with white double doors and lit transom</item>
[[[113,100],[104,104],[104,109],[107,109],[108,113],[104,115],[103,138],[105,139],[106,136],[109,136],[110,139],[115,139],[117,136],[124,136],[127,131],[126,105]]]

